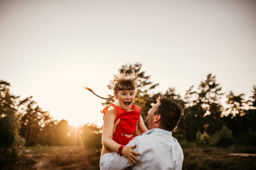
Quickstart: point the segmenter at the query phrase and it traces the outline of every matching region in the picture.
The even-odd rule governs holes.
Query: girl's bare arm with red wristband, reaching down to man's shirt
[[[108,111],[108,113],[104,118],[103,131],[102,131],[102,145],[115,152],[118,152],[118,149],[121,145],[116,143],[112,139],[115,118],[116,118],[116,112],[114,109]],[[132,163],[137,164],[136,161],[140,162],[140,160],[135,155],[141,155],[141,154],[132,150],[132,148],[135,148],[135,147],[134,146],[124,147],[122,150],[122,154],[126,157],[126,159],[129,161],[131,166],[132,166]]]

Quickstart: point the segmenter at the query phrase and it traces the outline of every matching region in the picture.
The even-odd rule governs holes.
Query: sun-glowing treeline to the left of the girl
[[[74,128],[67,120],[56,121],[31,97],[11,94],[10,83],[0,81],[0,169],[20,161],[24,146],[101,147],[101,128],[85,124]]]

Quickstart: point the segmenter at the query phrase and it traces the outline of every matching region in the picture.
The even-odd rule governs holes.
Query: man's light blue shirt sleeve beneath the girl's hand
[[[126,146],[137,145],[136,137],[133,138]],[[138,152],[138,145],[133,149]],[[130,166],[130,163],[124,156],[120,156],[116,152],[106,153],[100,158],[100,169],[101,170],[123,170]]]

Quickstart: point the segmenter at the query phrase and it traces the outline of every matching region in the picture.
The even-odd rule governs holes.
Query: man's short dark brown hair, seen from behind
[[[155,115],[161,115],[161,129],[172,132],[179,124],[184,109],[179,103],[163,95],[158,96],[156,101],[159,102],[159,106],[155,111]]]

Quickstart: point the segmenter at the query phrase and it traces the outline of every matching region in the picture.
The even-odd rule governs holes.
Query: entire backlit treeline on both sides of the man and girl
[[[158,86],[150,81],[150,76],[141,71],[141,64],[125,65],[120,73],[134,68],[138,74],[139,87],[134,104],[141,107],[143,119],[159,95],[166,95],[185,108],[178,128],[173,136],[181,145],[196,143],[200,146],[228,147],[231,145],[252,145],[256,143],[256,86],[252,96],[244,99],[244,94],[225,94],[215,76],[208,74],[199,87],[191,86],[183,96],[174,88],[165,93],[153,93]],[[21,100],[11,94],[9,82],[0,81],[0,167],[19,161],[19,150],[23,146],[81,145],[86,148],[101,148],[101,130],[94,124],[79,128],[68,125],[67,120],[56,121],[49,112],[43,111],[32,97]],[[112,84],[108,85],[109,88]],[[111,96],[111,95],[110,95]],[[226,100],[222,103],[221,100]],[[106,101],[103,105],[114,103]]]

